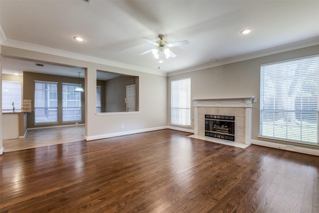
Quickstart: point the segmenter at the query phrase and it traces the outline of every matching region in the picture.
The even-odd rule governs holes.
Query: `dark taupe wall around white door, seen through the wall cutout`
[[[121,75],[106,81],[106,111],[126,112],[126,86],[135,84],[135,76]]]

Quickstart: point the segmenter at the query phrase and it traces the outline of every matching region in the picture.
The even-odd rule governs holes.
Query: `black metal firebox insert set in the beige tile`
[[[235,141],[235,116],[205,115],[205,136]]]

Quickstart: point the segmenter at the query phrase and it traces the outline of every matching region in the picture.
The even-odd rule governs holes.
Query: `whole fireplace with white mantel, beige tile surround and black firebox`
[[[216,140],[230,140],[250,145],[253,99],[253,96],[193,99],[194,135],[216,137]],[[209,118],[206,116],[209,116]],[[215,128],[213,130],[214,123],[211,120],[214,120],[214,116],[216,116],[216,120],[219,120],[219,123],[215,123]],[[221,119],[218,119],[217,116],[220,116]],[[230,120],[234,126],[232,126],[232,124],[226,124],[225,128],[225,124],[223,122],[224,118],[227,118],[227,116],[228,119],[226,120]],[[206,126],[208,129],[206,129]],[[216,128],[218,126],[220,128]],[[228,132],[229,129],[234,132]],[[224,133],[222,131],[227,132]]]

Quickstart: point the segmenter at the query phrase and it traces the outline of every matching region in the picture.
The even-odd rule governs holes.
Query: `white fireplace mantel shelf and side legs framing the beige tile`
[[[198,135],[198,107],[240,107],[245,108],[245,144],[251,144],[251,109],[254,96],[193,99],[194,135]],[[236,141],[236,138],[235,138]]]

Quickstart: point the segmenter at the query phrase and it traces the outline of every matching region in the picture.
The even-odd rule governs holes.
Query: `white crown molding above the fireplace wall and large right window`
[[[319,45],[319,37],[296,42],[296,43],[291,43],[291,44],[287,44],[287,45],[283,45],[283,46],[278,46],[278,47],[274,47],[274,48],[270,48],[270,49],[266,49],[266,50],[262,50],[262,51],[258,51],[258,52],[253,52],[253,53],[249,53],[249,54],[244,54],[244,55],[239,55],[239,56],[235,56],[235,57],[231,57],[231,58],[226,58],[226,59],[220,60],[220,61],[205,63],[205,64],[201,64],[199,66],[194,66],[194,67],[190,67],[187,69],[172,71],[172,72],[169,72],[167,74],[167,76],[173,76],[173,75],[178,75],[178,74],[182,74],[182,73],[193,72],[193,71],[197,71],[197,70],[207,69],[207,68],[216,67],[216,66],[225,65],[225,64],[230,64],[230,63],[239,62],[239,61],[245,61],[245,60],[249,60],[249,59],[259,58],[259,57],[263,57],[263,56],[273,55],[273,54],[277,54],[277,53],[287,52],[287,51],[301,49],[301,48],[315,46],[315,45]]]

